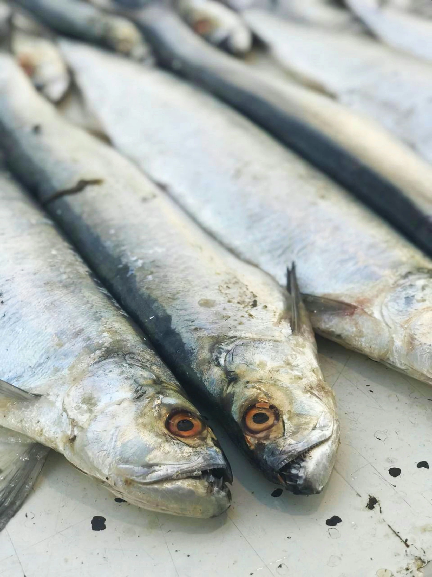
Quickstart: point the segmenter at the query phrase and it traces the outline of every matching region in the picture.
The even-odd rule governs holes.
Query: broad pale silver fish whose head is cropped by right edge
[[[61,47],[113,145],[204,230],[281,286],[295,261],[317,333],[432,384],[430,258],[211,95],[87,46]]]

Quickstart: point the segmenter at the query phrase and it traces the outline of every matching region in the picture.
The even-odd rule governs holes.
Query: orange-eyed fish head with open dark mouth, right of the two
[[[224,400],[251,458],[291,492],[320,493],[335,463],[339,421],[314,347],[301,336],[243,340],[224,364]]]

